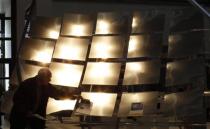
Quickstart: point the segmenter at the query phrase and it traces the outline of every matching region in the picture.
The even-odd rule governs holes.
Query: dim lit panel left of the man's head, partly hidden
[[[36,76],[38,71],[41,68],[42,67],[40,67],[40,66],[25,64],[24,62],[21,62],[20,63],[20,72],[21,72],[22,80]]]

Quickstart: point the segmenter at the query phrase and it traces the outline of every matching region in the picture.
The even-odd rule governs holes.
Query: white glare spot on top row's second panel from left
[[[70,34],[75,35],[75,36],[84,36],[85,26],[84,25],[71,25]]]

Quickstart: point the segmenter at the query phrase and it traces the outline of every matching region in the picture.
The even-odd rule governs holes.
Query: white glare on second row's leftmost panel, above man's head
[[[39,61],[42,63],[50,63],[52,57],[52,51],[49,49],[45,49],[42,51],[36,51],[32,60]]]

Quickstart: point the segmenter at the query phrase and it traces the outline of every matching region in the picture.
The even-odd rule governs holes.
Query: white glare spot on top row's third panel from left
[[[110,31],[110,24],[107,21],[99,20],[97,22],[97,33],[108,34]]]

